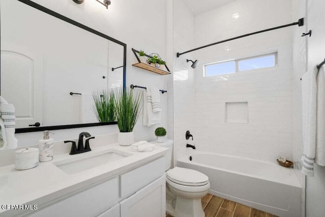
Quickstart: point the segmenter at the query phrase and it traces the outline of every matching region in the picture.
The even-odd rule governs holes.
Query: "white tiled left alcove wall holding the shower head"
[[[184,156],[193,144],[185,139],[187,130],[196,138],[194,111],[194,70],[186,58],[195,59],[194,52],[179,58],[177,52],[194,47],[194,16],[183,1],[174,0],[174,160]]]

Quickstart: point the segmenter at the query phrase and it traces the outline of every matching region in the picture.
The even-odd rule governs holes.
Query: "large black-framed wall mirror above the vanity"
[[[116,124],[93,95],[125,87],[126,44],[29,0],[0,0],[1,96],[16,133]]]

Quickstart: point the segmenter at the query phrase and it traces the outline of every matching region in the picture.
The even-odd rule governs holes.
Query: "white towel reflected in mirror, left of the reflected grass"
[[[91,94],[81,94],[80,103],[80,120],[81,123],[95,123],[98,122],[96,114],[93,110],[95,105]]]

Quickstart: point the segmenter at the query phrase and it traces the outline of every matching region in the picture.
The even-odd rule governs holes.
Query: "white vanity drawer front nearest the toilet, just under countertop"
[[[165,158],[159,158],[120,175],[120,197],[125,198],[165,174]]]

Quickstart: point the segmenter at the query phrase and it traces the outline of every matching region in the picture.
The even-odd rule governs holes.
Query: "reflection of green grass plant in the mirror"
[[[92,92],[94,101],[93,111],[99,122],[115,121],[114,93],[108,90],[97,90]]]

